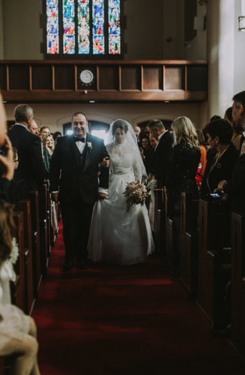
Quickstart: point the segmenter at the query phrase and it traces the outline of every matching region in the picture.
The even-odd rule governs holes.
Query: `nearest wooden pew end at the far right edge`
[[[231,340],[245,358],[245,218],[232,214]]]

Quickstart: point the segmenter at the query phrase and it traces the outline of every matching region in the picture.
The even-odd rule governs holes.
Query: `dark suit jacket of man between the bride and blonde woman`
[[[162,135],[157,148],[154,151],[153,162],[151,163],[151,173],[155,175],[156,180],[161,180],[165,183],[171,158],[174,149],[174,136],[167,131]]]

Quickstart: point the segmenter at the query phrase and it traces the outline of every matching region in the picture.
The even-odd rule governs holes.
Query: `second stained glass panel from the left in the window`
[[[63,0],[63,53],[75,53],[75,1]]]

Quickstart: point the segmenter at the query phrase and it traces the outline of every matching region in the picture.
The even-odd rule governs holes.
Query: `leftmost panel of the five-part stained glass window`
[[[58,0],[47,0],[47,53],[59,53]]]

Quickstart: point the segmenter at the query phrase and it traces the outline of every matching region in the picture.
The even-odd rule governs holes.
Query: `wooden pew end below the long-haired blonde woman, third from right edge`
[[[189,297],[196,299],[198,288],[199,200],[190,192],[180,193],[180,283]]]

